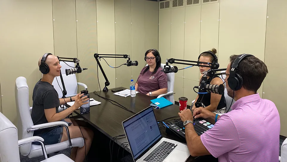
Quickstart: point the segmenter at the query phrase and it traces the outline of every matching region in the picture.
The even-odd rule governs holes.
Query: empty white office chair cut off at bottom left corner
[[[7,162],[20,162],[19,146],[29,145],[34,141],[40,142],[42,145],[41,151],[44,153],[45,160],[42,162],[73,162],[70,158],[64,154],[55,155],[51,158],[47,157],[46,149],[43,144],[44,139],[38,136],[28,137],[22,140],[18,140],[17,128],[13,123],[7,119],[0,112],[0,161]],[[41,147],[40,146],[40,147]]]

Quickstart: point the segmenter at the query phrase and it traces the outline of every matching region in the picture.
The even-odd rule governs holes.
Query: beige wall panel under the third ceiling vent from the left
[[[184,59],[197,61],[200,49],[200,15],[201,6],[185,8]],[[184,65],[188,67],[189,65]],[[199,80],[199,67],[184,70],[184,79]]]

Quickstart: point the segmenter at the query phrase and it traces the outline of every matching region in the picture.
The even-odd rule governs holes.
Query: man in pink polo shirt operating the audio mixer
[[[275,104],[260,98],[257,90],[267,66],[250,55],[232,55],[226,70],[228,95],[236,101],[232,111],[217,116],[203,108],[181,111],[185,138],[192,156],[213,155],[219,162],[278,162],[280,117]],[[242,77],[242,79],[240,78]],[[237,79],[237,80],[236,80]],[[194,118],[213,118],[214,127],[198,136]]]

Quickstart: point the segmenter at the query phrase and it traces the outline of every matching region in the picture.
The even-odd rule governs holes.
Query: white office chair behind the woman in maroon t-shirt
[[[161,64],[161,68],[164,68],[164,65],[165,64]],[[170,65],[170,67],[173,67],[173,66]],[[174,104],[173,94],[175,93],[173,92],[173,87],[174,87],[174,73],[167,73],[167,93],[158,95],[157,98],[164,97]]]

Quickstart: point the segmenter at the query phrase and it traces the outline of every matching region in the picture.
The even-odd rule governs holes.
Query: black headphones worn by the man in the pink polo
[[[250,56],[253,56],[253,55],[251,55],[251,54],[239,55],[231,65],[230,74],[229,74],[229,77],[227,79],[227,82],[228,82],[228,86],[233,91],[237,91],[237,90],[241,89],[242,85],[243,85],[243,79],[242,79],[241,75],[236,73],[236,71],[238,71],[239,63],[243,59],[245,59],[246,57],[250,57]]]

